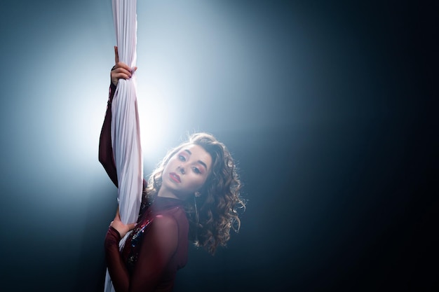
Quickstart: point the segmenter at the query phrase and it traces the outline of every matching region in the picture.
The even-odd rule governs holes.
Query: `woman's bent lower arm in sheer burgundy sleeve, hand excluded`
[[[131,277],[119,253],[120,238],[119,232],[112,227],[105,238],[105,258],[116,292],[154,291],[177,249],[177,222],[168,216],[154,218],[144,234]]]

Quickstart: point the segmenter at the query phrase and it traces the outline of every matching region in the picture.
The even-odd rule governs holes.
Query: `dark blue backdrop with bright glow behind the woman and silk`
[[[145,176],[212,132],[248,199],[175,291],[439,290],[439,7],[352,2],[139,1]],[[0,9],[1,291],[102,291],[111,1]]]

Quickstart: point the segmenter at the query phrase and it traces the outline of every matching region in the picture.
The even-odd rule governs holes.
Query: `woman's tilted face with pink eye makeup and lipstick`
[[[203,147],[184,146],[163,169],[158,195],[186,200],[203,186],[211,167],[212,157]]]

